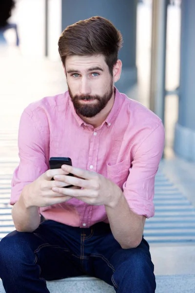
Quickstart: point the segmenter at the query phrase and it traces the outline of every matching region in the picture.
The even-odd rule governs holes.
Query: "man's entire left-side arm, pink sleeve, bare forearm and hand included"
[[[42,117],[41,117],[42,118]],[[39,119],[42,122],[42,119]],[[43,124],[43,122],[42,122]],[[19,127],[19,156],[20,165],[15,170],[12,179],[10,204],[14,205],[12,217],[18,231],[32,232],[39,227],[39,207],[65,202],[68,196],[59,196],[52,191],[52,187],[64,187],[64,182],[55,182],[51,179],[56,174],[68,174],[62,169],[48,170],[47,135],[38,129],[33,117],[23,112]]]

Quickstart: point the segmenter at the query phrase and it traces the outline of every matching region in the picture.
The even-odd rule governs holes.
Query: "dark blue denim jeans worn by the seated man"
[[[46,220],[34,232],[13,231],[0,241],[0,278],[6,293],[48,293],[45,280],[91,275],[117,293],[154,293],[154,265],[143,238],[122,249],[110,225],[90,228]]]

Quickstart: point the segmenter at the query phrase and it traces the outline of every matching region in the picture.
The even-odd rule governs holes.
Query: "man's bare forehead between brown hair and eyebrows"
[[[79,69],[87,70],[90,67],[100,66],[102,69],[106,69],[108,66],[105,62],[103,55],[92,55],[92,56],[68,56],[65,61],[66,70]]]

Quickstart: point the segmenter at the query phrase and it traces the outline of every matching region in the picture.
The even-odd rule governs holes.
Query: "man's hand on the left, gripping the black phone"
[[[59,204],[71,199],[71,196],[59,194],[54,192],[52,188],[59,187],[62,189],[66,184],[65,182],[51,180],[55,175],[64,176],[69,172],[63,171],[60,169],[49,169],[45,173],[43,173],[37,180],[25,186],[25,194],[23,196],[23,201],[26,207],[47,207],[54,204]],[[67,176],[71,177],[71,176]],[[75,189],[78,187],[72,187],[71,189]],[[25,198],[24,198],[25,197]]]

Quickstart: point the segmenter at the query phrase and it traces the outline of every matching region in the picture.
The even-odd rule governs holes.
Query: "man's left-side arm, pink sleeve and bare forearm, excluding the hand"
[[[10,204],[12,217],[18,231],[32,231],[39,227],[38,207],[28,207],[24,198],[28,186],[48,167],[45,163],[45,143],[30,113],[24,111],[20,118],[18,135],[20,165],[14,171]]]

